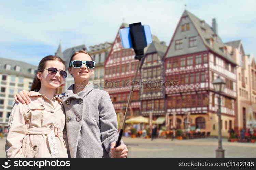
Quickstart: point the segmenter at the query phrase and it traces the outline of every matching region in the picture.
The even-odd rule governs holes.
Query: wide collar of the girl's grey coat
[[[65,93],[63,102],[67,101],[69,98],[83,99],[91,90],[94,89],[93,83],[90,83],[82,91],[74,94],[74,84],[72,84]]]

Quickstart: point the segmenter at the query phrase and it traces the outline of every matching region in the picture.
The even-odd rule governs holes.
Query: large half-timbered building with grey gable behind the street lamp
[[[175,29],[165,57],[165,81],[173,82],[165,89],[166,114],[175,112],[178,128],[184,128],[190,112],[191,126],[201,131],[218,133],[218,101],[212,81],[220,76],[226,81],[221,103],[222,131],[228,135],[227,123],[234,123],[236,99],[236,63],[227,52],[212,26],[185,10]],[[175,85],[178,84],[178,85]]]

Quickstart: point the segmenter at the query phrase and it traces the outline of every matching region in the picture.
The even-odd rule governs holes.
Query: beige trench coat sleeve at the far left
[[[6,138],[6,157],[24,157],[22,155],[22,141],[25,132],[26,105],[15,103],[9,116],[8,135]]]

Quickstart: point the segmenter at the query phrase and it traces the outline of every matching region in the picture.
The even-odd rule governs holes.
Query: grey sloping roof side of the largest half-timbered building
[[[188,16],[190,18],[191,22],[194,24],[205,46],[207,46],[213,52],[223,56],[233,64],[236,64],[236,62],[233,60],[233,58],[230,56],[228,52],[227,54],[225,54],[224,52],[221,51],[220,48],[224,47],[225,45],[222,42],[221,38],[213,31],[211,26],[209,26],[207,23],[205,23],[204,20],[199,19],[197,16],[195,16],[194,14],[190,13],[187,10],[185,10],[182,14],[182,17],[185,17],[185,16]],[[207,39],[213,39],[213,46],[211,46],[207,42]]]

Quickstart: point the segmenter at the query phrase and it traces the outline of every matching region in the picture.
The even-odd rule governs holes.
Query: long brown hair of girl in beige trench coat
[[[40,90],[40,88],[41,88],[41,81],[40,81],[40,79],[38,79],[37,73],[38,72],[42,72],[43,70],[45,70],[46,62],[47,61],[51,61],[51,60],[57,60],[57,61],[59,61],[59,62],[61,62],[61,63],[63,63],[65,65],[65,62],[60,57],[58,57],[58,56],[48,55],[48,56],[44,57],[39,62],[37,72],[35,73],[34,81],[33,81],[32,85],[31,85],[31,88],[30,88],[31,91],[38,92]]]

